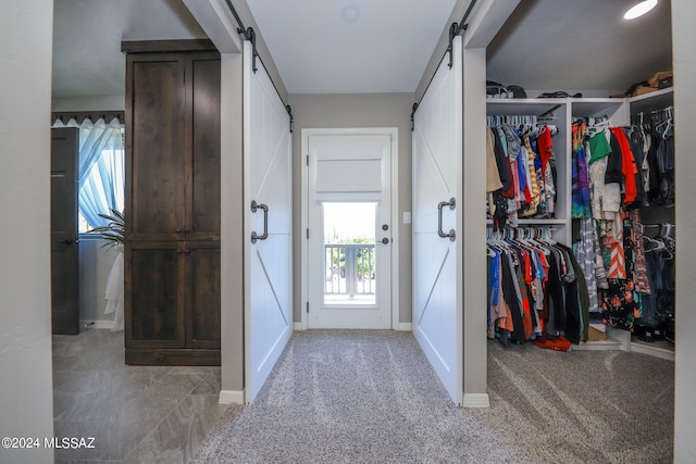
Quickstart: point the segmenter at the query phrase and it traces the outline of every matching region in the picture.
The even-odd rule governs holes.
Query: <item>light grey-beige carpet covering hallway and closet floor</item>
[[[667,463],[673,371],[642,354],[489,342],[492,407],[463,410],[410,333],[299,331],[196,462]]]

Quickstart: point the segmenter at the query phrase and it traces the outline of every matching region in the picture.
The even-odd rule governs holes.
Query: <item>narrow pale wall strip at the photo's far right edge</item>
[[[672,0],[676,121],[676,354],[674,462],[696,462],[696,2]]]

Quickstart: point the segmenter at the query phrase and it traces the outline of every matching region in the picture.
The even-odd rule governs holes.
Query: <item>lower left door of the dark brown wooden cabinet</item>
[[[181,285],[185,254],[175,242],[141,243],[126,254],[127,347],[185,347]]]

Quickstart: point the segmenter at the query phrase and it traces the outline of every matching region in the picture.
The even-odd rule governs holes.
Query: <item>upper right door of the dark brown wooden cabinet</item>
[[[188,58],[191,204],[187,239],[220,238],[220,55]]]

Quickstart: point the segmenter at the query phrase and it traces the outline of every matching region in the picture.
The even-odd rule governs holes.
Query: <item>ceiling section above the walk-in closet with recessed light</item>
[[[623,92],[670,70],[670,0],[623,20],[637,2],[522,0],[487,49],[488,79],[546,91]]]

